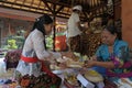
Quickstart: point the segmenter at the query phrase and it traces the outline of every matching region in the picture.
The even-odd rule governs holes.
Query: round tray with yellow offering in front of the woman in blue
[[[96,70],[94,69],[88,69],[84,76],[89,80],[89,81],[92,81],[92,82],[100,82],[100,81],[103,81],[103,77]]]

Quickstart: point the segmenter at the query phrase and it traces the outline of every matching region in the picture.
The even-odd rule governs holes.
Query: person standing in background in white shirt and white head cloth
[[[73,13],[67,22],[67,37],[68,37],[68,47],[69,51],[80,52],[80,19],[79,14],[81,12],[81,6],[75,6],[73,8]]]

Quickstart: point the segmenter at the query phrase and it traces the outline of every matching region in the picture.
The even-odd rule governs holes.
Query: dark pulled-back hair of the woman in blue
[[[110,32],[113,35],[117,34],[118,40],[122,40],[121,33],[118,32],[118,30],[114,25],[107,25],[107,26],[105,26],[105,30],[107,30],[108,32]]]

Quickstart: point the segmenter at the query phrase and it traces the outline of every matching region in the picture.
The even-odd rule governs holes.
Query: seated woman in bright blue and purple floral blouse
[[[114,25],[106,26],[101,32],[101,46],[98,47],[92,61],[85,64],[112,81],[132,78],[129,45],[119,36]]]

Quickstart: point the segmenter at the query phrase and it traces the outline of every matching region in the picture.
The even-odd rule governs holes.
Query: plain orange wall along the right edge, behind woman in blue
[[[132,0],[122,0],[122,36],[132,48]]]

